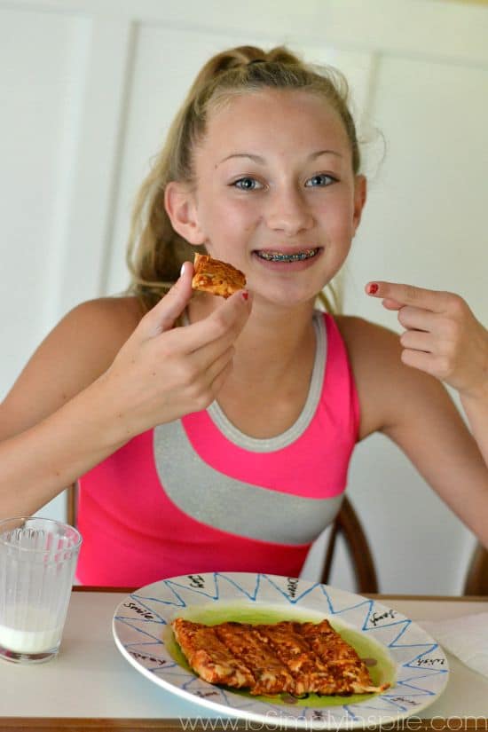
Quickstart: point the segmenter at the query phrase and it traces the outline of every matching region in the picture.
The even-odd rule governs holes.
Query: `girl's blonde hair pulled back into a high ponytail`
[[[358,138],[348,108],[348,85],[340,72],[306,65],[284,46],[267,52],[239,46],[218,53],[193,82],[135,201],[127,252],[129,292],[145,310],[168,292],[185,260],[193,260],[195,251],[206,251],[188,244],[173,229],[164,208],[166,185],[172,180],[193,183],[193,151],[204,138],[211,110],[235,95],[270,88],[308,91],[327,99],[342,119],[350,140],[352,169],[358,173]],[[327,311],[335,311],[334,289],[330,284],[327,289],[332,299],[325,292],[319,299]]]

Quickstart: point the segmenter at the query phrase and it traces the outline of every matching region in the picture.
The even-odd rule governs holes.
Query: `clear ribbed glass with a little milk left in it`
[[[0,521],[0,657],[56,656],[81,543],[73,526],[49,518]]]

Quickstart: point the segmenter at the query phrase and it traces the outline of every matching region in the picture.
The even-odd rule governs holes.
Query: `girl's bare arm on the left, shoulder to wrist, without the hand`
[[[35,351],[0,405],[0,514],[34,513],[121,441],[98,378],[138,324],[128,301],[75,308]]]

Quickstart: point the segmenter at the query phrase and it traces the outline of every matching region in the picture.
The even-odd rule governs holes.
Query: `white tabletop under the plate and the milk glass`
[[[42,665],[0,661],[0,729],[139,732],[182,729],[180,720],[215,719],[161,689],[122,657],[112,637],[112,618],[128,591],[75,587],[59,657]],[[374,595],[413,620],[457,618],[488,610],[488,598],[425,598]],[[402,730],[488,730],[488,679],[449,656],[452,673],[444,694]],[[450,720],[450,721],[443,721]],[[240,728],[257,732],[243,720]],[[231,729],[235,729],[232,726]],[[388,726],[388,729],[395,728]]]

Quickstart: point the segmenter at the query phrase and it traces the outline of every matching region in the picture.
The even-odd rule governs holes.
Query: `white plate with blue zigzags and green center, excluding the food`
[[[394,668],[392,686],[380,695],[302,700],[284,704],[232,693],[202,681],[175,658],[169,624],[184,616],[200,621],[242,620],[242,612],[270,611],[276,619],[328,618],[336,628],[359,632],[369,657],[383,657],[378,671]],[[223,615],[224,617],[220,617]],[[127,596],[115,610],[113,632],[122,656],[159,686],[216,712],[273,728],[364,728],[417,714],[445,689],[449,666],[442,649],[412,620],[385,605],[305,579],[213,572],[163,579]],[[375,647],[375,648],[374,648]],[[375,656],[373,655],[375,654]],[[386,665],[384,657],[389,657]],[[374,673],[374,666],[370,668]],[[382,678],[382,681],[385,681]],[[390,681],[390,679],[387,679]],[[313,698],[313,697],[311,697]],[[330,700],[331,697],[328,697]]]

